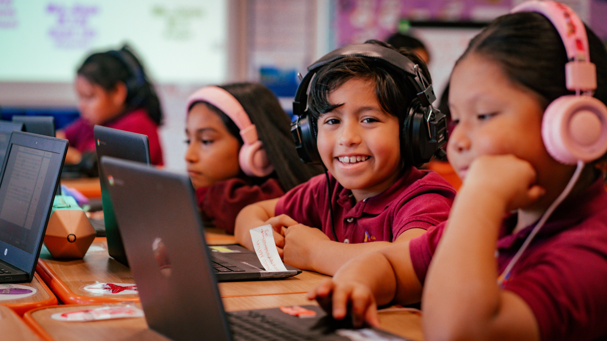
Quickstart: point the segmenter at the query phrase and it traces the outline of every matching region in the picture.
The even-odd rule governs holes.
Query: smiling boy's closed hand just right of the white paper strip
[[[330,241],[320,229],[302,224],[290,226],[285,229],[283,260],[299,269],[314,270],[310,263],[311,252],[322,240]]]

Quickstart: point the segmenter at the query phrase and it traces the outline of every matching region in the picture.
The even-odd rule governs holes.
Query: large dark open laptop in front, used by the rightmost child
[[[177,341],[355,340],[345,333],[403,340],[379,329],[348,329],[350,320],[334,321],[317,306],[304,307],[316,312],[310,318],[279,308],[225,312],[189,177],[115,158],[101,165],[146,321],[158,333]]]

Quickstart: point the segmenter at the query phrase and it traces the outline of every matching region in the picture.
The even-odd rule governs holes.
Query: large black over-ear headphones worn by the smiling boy
[[[407,164],[418,166],[427,163],[447,142],[446,117],[432,107],[436,100],[432,84],[422,75],[419,66],[401,53],[376,44],[354,44],[341,47],[318,59],[308,67],[308,73],[297,87],[293,101],[293,114],[297,120],[291,124],[297,154],[305,163],[322,164],[316,147],[316,120],[308,108],[308,95],[318,70],[330,62],[347,56],[360,56],[388,67],[409,79],[417,97],[407,106],[401,132],[401,155]]]

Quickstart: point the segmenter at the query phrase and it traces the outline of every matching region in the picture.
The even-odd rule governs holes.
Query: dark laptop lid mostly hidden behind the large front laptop
[[[101,160],[103,156],[108,156],[145,164],[150,163],[148,135],[103,126],[93,127],[93,132],[95,133],[97,160]],[[118,262],[129,266],[126,254],[124,254],[118,222],[114,215],[114,206],[112,206],[110,195],[107,192],[107,178],[103,175],[101,165],[99,165],[99,180],[103,204],[103,223],[107,237],[107,253]],[[98,224],[100,222],[93,220],[92,223]]]

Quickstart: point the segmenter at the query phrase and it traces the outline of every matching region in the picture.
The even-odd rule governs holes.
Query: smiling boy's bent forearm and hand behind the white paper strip
[[[278,200],[279,198],[259,201],[246,206],[240,211],[236,217],[236,225],[234,226],[234,237],[236,237],[237,243],[249,250],[253,250],[253,241],[251,241],[249,230],[257,226],[270,224],[274,229],[276,247],[279,249],[279,254],[282,257],[282,248],[285,245],[282,228],[283,226],[295,225],[297,221],[285,214],[274,217],[274,209]]]

